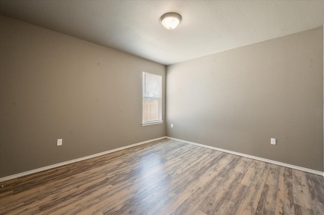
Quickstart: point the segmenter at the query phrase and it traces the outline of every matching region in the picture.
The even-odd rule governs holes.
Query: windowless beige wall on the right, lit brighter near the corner
[[[167,136],[323,171],[323,27],[168,66]]]

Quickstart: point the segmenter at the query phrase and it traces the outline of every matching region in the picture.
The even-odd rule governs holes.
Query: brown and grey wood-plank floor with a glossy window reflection
[[[324,214],[322,176],[169,139],[0,185],[0,214]]]

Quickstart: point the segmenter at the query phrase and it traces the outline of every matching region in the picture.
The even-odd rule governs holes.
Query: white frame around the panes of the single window
[[[158,92],[159,92],[159,96],[158,97],[150,97],[150,96],[144,96],[144,92],[145,92],[145,75],[152,75],[152,76],[157,76],[160,78],[160,81],[158,82]],[[143,72],[142,73],[142,126],[148,126],[148,125],[155,125],[155,124],[161,124],[163,123],[162,120],[162,76],[161,75],[156,75],[153,73],[148,73],[148,72]],[[157,98],[157,103],[158,103],[158,120],[152,120],[152,121],[147,121],[144,122],[144,99],[145,98]]]

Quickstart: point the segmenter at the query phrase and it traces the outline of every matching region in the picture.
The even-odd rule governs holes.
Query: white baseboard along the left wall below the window
[[[109,154],[109,153],[112,153],[112,152],[115,152],[115,151],[123,150],[123,149],[126,149],[126,148],[131,148],[131,147],[134,147],[134,146],[142,145],[142,144],[145,144],[145,143],[149,143],[149,142],[153,142],[153,141],[160,140],[160,139],[165,139],[165,138],[167,138],[167,137],[159,137],[159,138],[155,138],[155,139],[151,139],[151,140],[146,140],[146,141],[143,141],[143,142],[140,142],[140,143],[135,143],[135,144],[123,146],[123,147],[120,147],[120,148],[111,149],[109,151],[104,151],[104,152],[100,152],[100,153],[97,153],[97,154],[92,154],[92,155],[89,155],[89,156],[80,157],[80,158],[76,158],[76,159],[73,159],[73,160],[68,160],[66,162],[62,162],[62,163],[59,163],[59,164],[54,164],[54,165],[50,165],[50,166],[47,166],[47,167],[42,167],[42,168],[38,168],[38,169],[35,169],[35,170],[30,170],[30,171],[27,171],[27,172],[18,173],[18,174],[15,174],[15,175],[3,177],[3,178],[0,178],[0,182],[8,181],[8,180],[19,178],[19,177],[22,177],[22,176],[27,176],[27,175],[42,172],[42,171],[45,171],[45,170],[50,170],[50,169],[53,169],[53,168],[56,168],[56,167],[61,167],[61,166],[68,165],[68,164],[73,164],[73,163],[79,162],[81,160],[90,159],[90,158],[97,157],[97,156],[100,156],[100,155]]]

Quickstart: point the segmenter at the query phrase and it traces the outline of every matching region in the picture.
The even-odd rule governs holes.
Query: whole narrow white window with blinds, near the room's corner
[[[142,126],[162,121],[162,76],[143,72],[143,121]]]

